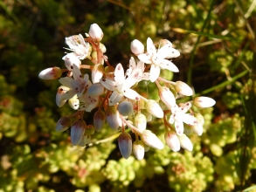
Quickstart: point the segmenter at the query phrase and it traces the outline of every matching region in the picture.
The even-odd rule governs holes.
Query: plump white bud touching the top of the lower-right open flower
[[[161,86],[158,91],[159,97],[162,99],[163,103],[171,108],[176,105],[176,99],[170,89],[166,86]]]

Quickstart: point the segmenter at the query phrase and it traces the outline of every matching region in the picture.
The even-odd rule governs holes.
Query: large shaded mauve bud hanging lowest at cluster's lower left
[[[78,145],[85,133],[86,122],[85,120],[75,120],[71,126],[71,142],[74,146]]]

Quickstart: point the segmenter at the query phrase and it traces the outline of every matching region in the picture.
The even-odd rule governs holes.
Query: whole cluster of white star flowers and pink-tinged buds
[[[164,119],[164,139],[170,149],[179,151],[183,147],[191,151],[193,145],[184,134],[184,124],[197,135],[203,134],[204,125],[203,116],[194,113],[191,106],[210,107],[215,105],[215,100],[197,97],[176,104],[178,96],[191,96],[192,89],[182,81],[173,82],[159,75],[161,70],[179,72],[170,59],[178,57],[180,52],[166,39],[162,39],[156,49],[151,38],[147,39],[147,51],[144,51],[144,45],[135,39],[130,48],[137,59],[130,58],[125,72],[121,64],[115,68],[109,64],[104,55],[106,47],[100,43],[102,38],[103,32],[98,24],[91,25],[86,38],[82,35],[66,38],[67,50],[71,51],[62,58],[66,69],[55,66],[39,73],[41,79],[59,79],[61,86],[56,94],[57,106],[64,106],[68,101],[76,110],[61,117],[56,130],[65,131],[71,127],[72,144],[85,147],[91,142],[94,130],[100,132],[107,121],[109,127],[121,131],[118,143],[122,156],[128,158],[133,152],[138,160],[142,160],[149,147],[164,147],[156,134],[146,129],[150,116],[155,116]],[[81,60],[85,58],[90,59],[93,65],[83,65]],[[83,74],[82,69],[88,74]],[[63,72],[66,77],[62,77]],[[165,105],[163,108],[156,100],[146,99],[135,91],[137,83],[143,80],[156,83],[159,98]],[[93,114],[93,125],[87,125],[83,114],[92,112],[94,108],[98,110]],[[135,134],[135,141],[125,131],[126,127]]]

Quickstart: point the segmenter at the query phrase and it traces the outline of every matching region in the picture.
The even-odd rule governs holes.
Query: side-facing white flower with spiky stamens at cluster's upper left
[[[79,59],[85,59],[90,57],[91,45],[85,42],[85,39],[81,34],[78,36],[71,36],[69,38],[66,38],[66,45],[68,45],[70,48],[70,49],[66,48],[66,50],[73,51],[73,55],[75,57]],[[66,56],[63,57],[62,59],[66,60]],[[71,57],[71,59],[73,59],[72,58],[73,56],[71,55],[69,55],[68,57]],[[78,61],[73,60],[73,62],[77,63]]]

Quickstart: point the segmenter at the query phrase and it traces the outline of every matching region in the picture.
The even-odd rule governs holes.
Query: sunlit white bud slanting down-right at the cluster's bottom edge
[[[163,149],[163,142],[158,139],[156,134],[153,134],[149,130],[144,130],[142,134],[140,134],[142,141],[149,147]]]

